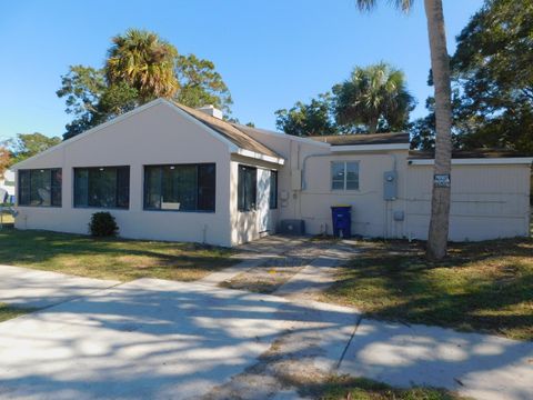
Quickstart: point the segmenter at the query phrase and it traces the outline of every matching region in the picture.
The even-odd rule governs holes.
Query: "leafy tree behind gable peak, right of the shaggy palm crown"
[[[233,100],[212,61],[194,54],[178,56],[174,72],[180,86],[175,93],[178,102],[193,108],[211,104],[225,114],[231,112]]]

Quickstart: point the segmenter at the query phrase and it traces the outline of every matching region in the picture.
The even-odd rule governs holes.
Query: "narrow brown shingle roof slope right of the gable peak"
[[[264,156],[275,157],[281,159],[282,157],[276,154],[274,151],[269,149],[266,146],[260,143],[252,137],[250,137],[247,132],[238,129],[230,122],[223,121],[221,119],[208,116],[207,113],[195,110],[193,108],[180,104],[174,102],[177,107],[185,111],[191,117],[195,118],[200,122],[204,123],[212,130],[217,131],[219,134],[234,143],[241,149],[250,150],[257,153],[261,153]]]

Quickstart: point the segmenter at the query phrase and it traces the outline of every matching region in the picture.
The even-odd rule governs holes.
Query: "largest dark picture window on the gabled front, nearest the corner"
[[[214,212],[214,163],[144,167],[144,209]]]

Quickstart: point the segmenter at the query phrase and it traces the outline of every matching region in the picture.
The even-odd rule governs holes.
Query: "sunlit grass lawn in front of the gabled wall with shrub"
[[[0,230],[0,264],[129,281],[192,281],[235,263],[231,250],[194,243],[92,239],[47,231]]]

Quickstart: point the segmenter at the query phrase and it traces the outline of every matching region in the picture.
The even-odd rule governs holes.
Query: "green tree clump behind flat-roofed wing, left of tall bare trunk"
[[[295,136],[404,130],[415,104],[403,72],[384,62],[355,68],[332,92],[275,111],[276,128]]]

